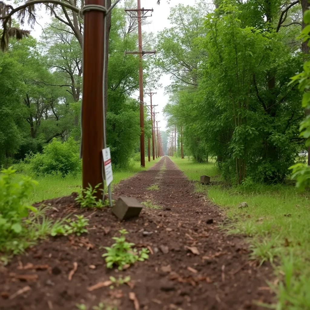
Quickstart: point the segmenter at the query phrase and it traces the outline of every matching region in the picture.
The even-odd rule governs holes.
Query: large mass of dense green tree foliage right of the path
[[[198,163],[216,158],[223,177],[233,183],[246,177],[284,181],[303,143],[300,92],[296,83],[288,85],[302,55],[294,43],[295,24],[285,35],[284,27],[277,31],[283,5],[223,1],[202,15],[204,7],[180,5],[171,11],[172,28],[158,36],[159,64],[176,72],[164,109],[168,125],[179,132],[182,127],[184,153]],[[272,25],[264,20],[269,11]],[[186,23],[179,22],[184,16]]]

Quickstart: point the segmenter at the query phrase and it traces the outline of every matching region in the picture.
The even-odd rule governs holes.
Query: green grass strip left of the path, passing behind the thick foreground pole
[[[123,179],[127,179],[139,171],[146,170],[150,168],[155,162],[157,162],[160,158],[155,159],[155,161],[151,160],[148,162],[148,159],[145,159],[145,168],[140,167],[140,162],[131,162],[131,165],[124,170],[116,170],[113,171],[113,185],[119,183]],[[16,176],[16,180],[20,178],[19,175]],[[82,176],[66,176],[65,178],[57,177],[57,176],[46,176],[41,178],[34,178],[38,181],[38,185],[33,188],[33,191],[30,193],[27,201],[27,204],[33,204],[34,202],[52,199],[55,197],[61,197],[65,195],[69,195],[72,192],[77,191],[77,188],[82,184]]]

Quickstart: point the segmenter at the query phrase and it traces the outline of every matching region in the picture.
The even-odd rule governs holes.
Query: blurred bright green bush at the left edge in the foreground
[[[26,227],[23,218],[28,211],[36,211],[33,206],[24,204],[36,181],[22,176],[19,182],[14,181],[15,170],[12,167],[2,170],[0,175],[0,251],[8,250],[11,240],[24,236]],[[10,249],[9,249],[10,250]]]

